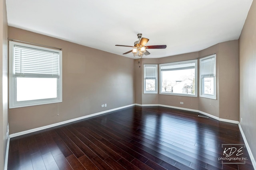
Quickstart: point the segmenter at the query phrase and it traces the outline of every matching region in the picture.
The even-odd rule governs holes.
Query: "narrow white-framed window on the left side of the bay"
[[[157,93],[157,64],[144,64],[144,93]]]

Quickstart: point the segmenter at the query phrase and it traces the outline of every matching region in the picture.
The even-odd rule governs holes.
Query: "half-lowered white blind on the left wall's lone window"
[[[56,77],[60,75],[59,53],[14,45],[16,77]]]

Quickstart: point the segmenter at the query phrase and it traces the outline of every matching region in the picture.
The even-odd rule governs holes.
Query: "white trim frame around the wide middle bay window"
[[[166,65],[176,65],[176,64],[186,64],[186,63],[195,63],[195,94],[181,94],[181,93],[169,93],[169,92],[162,92],[162,72],[161,72],[161,66]],[[188,60],[188,61],[178,61],[174,63],[164,63],[159,64],[159,73],[160,73],[160,80],[159,80],[159,94],[165,94],[165,95],[172,95],[172,96],[189,96],[189,97],[197,97],[198,91],[197,91],[197,80],[198,80],[198,60]]]

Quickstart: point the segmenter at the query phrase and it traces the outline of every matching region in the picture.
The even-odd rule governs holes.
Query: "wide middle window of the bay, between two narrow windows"
[[[160,94],[197,97],[197,60],[160,64]]]

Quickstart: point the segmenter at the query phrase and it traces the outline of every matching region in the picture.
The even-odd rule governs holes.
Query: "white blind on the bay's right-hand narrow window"
[[[201,77],[215,76],[215,59],[214,57],[202,60]]]

